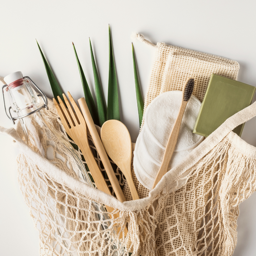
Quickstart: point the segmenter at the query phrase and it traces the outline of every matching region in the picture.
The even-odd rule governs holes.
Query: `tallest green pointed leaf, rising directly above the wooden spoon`
[[[109,39],[109,73],[108,73],[107,119],[108,120],[117,119],[120,121],[116,67],[114,65],[110,26],[108,26],[108,39]]]

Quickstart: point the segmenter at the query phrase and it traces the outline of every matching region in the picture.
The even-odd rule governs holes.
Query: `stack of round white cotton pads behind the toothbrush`
[[[151,190],[164,156],[165,146],[181,106],[182,91],[160,94],[145,111],[144,126],[134,150],[133,167],[138,181]],[[201,102],[192,95],[185,109],[177,144],[168,170],[180,163],[203,136],[192,133]]]

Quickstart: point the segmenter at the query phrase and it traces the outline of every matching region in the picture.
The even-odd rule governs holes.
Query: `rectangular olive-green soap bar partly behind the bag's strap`
[[[256,87],[212,74],[193,133],[207,137],[233,114],[248,107]],[[244,124],[233,132],[241,136]]]

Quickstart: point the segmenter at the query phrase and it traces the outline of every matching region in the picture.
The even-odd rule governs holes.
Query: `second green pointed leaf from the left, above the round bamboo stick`
[[[79,73],[80,73],[80,77],[81,77],[81,81],[82,81],[82,87],[84,89],[85,101],[87,103],[87,106],[89,108],[89,111],[90,111],[90,114],[92,116],[92,119],[93,119],[94,123],[99,125],[98,111],[97,111],[97,108],[95,106],[94,99],[92,98],[91,91],[90,91],[89,85],[86,81],[85,74],[84,74],[84,71],[82,69],[81,63],[78,59],[78,55],[76,53],[74,43],[72,42],[72,44],[73,44],[73,48],[74,48],[74,52],[75,52],[76,61],[78,63],[78,69],[79,69]]]

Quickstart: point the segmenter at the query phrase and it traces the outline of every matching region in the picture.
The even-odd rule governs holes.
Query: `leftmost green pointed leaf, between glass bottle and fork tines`
[[[44,57],[43,52],[42,52],[38,42],[37,42],[37,45],[38,45],[39,51],[40,51],[42,59],[43,59],[44,67],[46,69],[46,73],[47,73],[47,76],[48,76],[48,79],[50,82],[50,86],[52,87],[53,96],[54,96],[55,100],[57,100],[57,102],[59,102],[59,100],[57,98],[57,96],[59,96],[62,99],[62,101],[65,103],[64,98],[62,96],[63,92],[60,89],[60,86],[59,86],[55,76],[53,75],[53,72],[50,69],[50,66],[49,66],[46,58]]]

